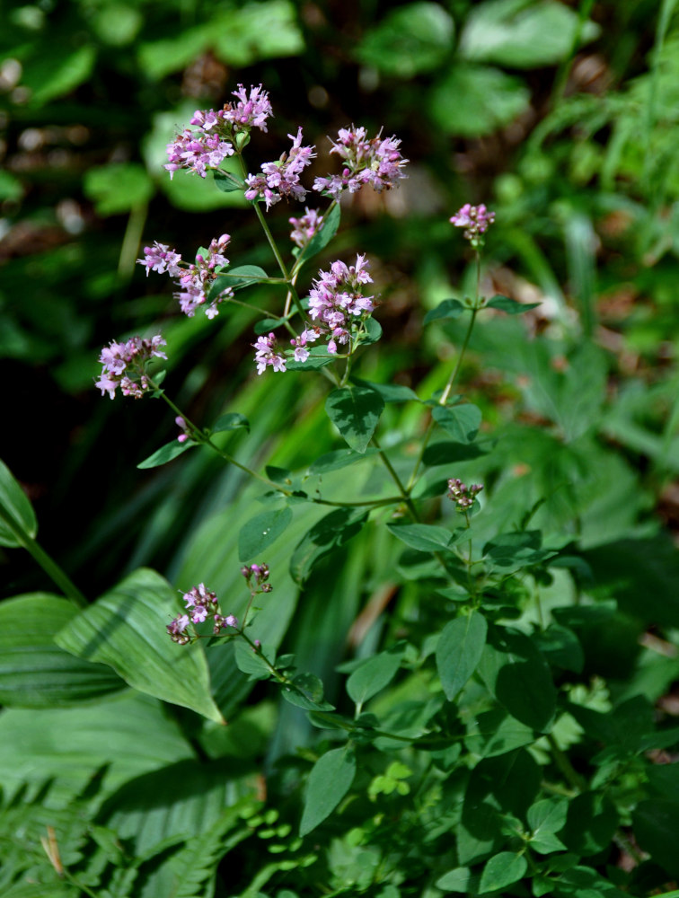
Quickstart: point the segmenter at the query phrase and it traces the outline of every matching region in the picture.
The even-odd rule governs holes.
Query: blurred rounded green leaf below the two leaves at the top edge
[[[429,93],[429,113],[445,134],[482,137],[528,109],[524,82],[497,68],[457,65]]]

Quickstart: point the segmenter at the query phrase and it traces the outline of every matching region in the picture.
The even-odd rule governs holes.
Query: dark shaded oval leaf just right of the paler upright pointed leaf
[[[481,679],[507,711],[542,732],[556,708],[549,665],[533,642],[516,630],[493,627],[478,666]]]

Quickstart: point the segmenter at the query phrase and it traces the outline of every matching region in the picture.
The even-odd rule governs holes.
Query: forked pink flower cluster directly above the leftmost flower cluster
[[[170,250],[164,243],[155,242],[153,246],[145,246],[144,259],[137,259],[140,265],[145,265],[146,274],[149,271],[157,271],[168,274],[175,279],[178,292],[174,294],[179,300],[181,311],[192,318],[199,306],[205,306],[208,318],[214,318],[219,314],[219,304],[234,295],[231,287],[225,287],[222,292],[207,305],[207,294],[214,283],[217,269],[229,264],[224,252],[231,237],[223,233],[216,237],[207,247],[205,255],[198,254],[195,263],[185,264],[178,252]]]

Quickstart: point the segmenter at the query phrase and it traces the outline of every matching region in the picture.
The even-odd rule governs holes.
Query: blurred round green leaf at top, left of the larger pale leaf
[[[366,31],[357,59],[385,75],[412,78],[440,66],[450,53],[452,16],[437,3],[410,3],[389,10]]]

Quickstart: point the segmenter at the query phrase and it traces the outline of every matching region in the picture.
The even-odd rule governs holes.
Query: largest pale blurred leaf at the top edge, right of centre
[[[569,56],[578,28],[578,13],[555,0],[492,0],[472,5],[460,52],[475,62],[508,68],[553,66]],[[587,21],[580,40],[593,40],[598,32]]]

